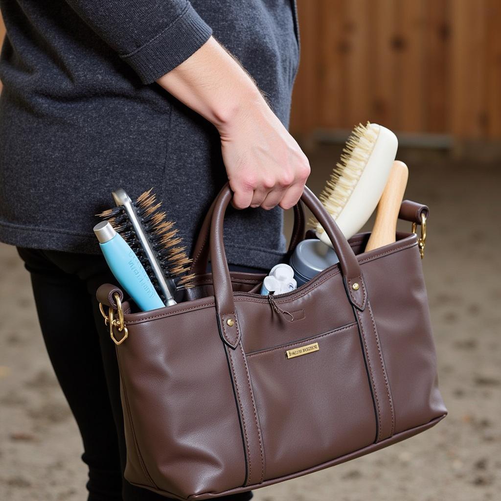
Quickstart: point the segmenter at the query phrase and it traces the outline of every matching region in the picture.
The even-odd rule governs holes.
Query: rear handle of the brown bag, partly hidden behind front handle
[[[196,239],[195,245],[193,247],[192,262],[190,271],[188,273],[194,273],[195,275],[203,275],[207,270],[207,263],[209,261],[209,230],[210,221],[212,219],[212,212],[214,211],[214,205],[217,197],[212,200],[209,210],[205,214],[205,217],[200,227],[200,232]],[[304,238],[305,235],[305,210],[301,200],[293,207],[294,208],[294,226],[292,230],[291,242],[289,248],[285,255],[285,261],[289,261],[296,245]]]

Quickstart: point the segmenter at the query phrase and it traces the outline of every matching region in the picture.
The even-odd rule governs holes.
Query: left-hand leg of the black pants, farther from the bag
[[[18,248],[31,274],[42,335],[82,436],[89,501],[122,499],[118,435],[86,286],[38,249]]]

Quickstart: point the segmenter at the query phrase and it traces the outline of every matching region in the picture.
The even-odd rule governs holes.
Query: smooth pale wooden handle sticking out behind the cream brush
[[[377,206],[376,221],[365,247],[365,252],[395,241],[398,212],[400,211],[408,177],[409,169],[407,165],[395,160]]]

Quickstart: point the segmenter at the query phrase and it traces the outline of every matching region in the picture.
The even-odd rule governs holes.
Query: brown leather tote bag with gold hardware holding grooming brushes
[[[207,214],[186,301],[137,312],[118,288],[98,291],[120,343],[126,479],[208,499],[334,466],[445,417],[417,235],[364,253],[369,234],[346,240],[305,187],[340,262],[261,296],[265,274],[228,272],[231,197],[226,183]],[[425,209],[406,201],[401,214],[417,222]],[[289,252],[304,236],[301,202],[295,216]]]

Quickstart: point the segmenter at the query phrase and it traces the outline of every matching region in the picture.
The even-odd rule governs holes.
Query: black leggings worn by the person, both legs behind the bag
[[[169,499],[123,478],[125,436],[115,345],[96,300],[101,284],[117,283],[104,258],[17,248],[31,274],[49,358],[82,435],[82,459],[89,466],[89,501]],[[234,265],[229,269],[266,271]],[[251,497],[252,491],[247,491],[219,499]]]

